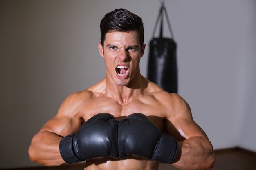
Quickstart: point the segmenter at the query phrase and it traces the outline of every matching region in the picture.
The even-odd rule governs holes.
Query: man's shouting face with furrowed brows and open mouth
[[[137,31],[113,31],[106,34],[104,48],[98,44],[99,53],[104,58],[107,77],[118,86],[127,86],[140,75],[139,62],[144,54],[145,44],[139,43]]]

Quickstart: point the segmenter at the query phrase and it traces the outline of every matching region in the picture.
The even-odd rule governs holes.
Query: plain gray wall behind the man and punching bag
[[[165,4],[178,44],[179,94],[195,121],[214,149],[256,151],[256,1]],[[99,22],[119,7],[143,18],[148,44],[160,0],[0,0],[0,169],[37,166],[27,154],[31,138],[67,95],[105,77]],[[148,46],[144,76],[147,62]]]

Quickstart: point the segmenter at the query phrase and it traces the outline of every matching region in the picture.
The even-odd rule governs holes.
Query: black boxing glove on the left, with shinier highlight
[[[60,141],[59,149],[66,163],[76,163],[87,159],[118,157],[118,121],[109,113],[91,117],[77,131]]]

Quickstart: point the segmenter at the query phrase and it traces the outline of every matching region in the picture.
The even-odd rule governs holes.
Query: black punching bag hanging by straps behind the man
[[[168,27],[171,32],[171,38],[164,38],[162,36],[164,18],[163,11],[166,15]],[[155,38],[155,29],[159,21],[159,37]],[[155,23],[153,38],[150,40],[147,78],[170,93],[178,92],[176,49],[177,44],[174,41],[171,24],[168,20],[166,8],[162,3],[162,7],[160,8],[159,15],[157,17],[157,22]]]

